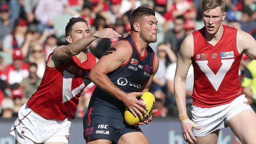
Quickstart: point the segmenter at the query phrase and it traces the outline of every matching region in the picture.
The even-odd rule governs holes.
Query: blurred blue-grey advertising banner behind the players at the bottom
[[[14,144],[15,138],[9,134],[14,119],[0,121],[0,144]],[[155,118],[150,124],[140,126],[151,144],[186,144],[182,137],[178,119]],[[85,144],[82,119],[72,120],[69,144]],[[241,144],[229,128],[221,129],[217,144]]]

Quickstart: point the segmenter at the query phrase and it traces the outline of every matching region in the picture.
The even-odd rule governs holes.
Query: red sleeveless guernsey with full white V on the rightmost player
[[[238,77],[242,56],[237,51],[236,34],[237,29],[223,25],[223,35],[213,46],[205,39],[205,27],[193,32],[194,105],[224,105],[243,94]]]

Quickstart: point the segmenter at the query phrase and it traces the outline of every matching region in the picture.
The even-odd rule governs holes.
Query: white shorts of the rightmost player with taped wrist
[[[201,127],[200,130],[192,129],[193,134],[196,137],[204,137],[217,129],[228,127],[228,120],[246,109],[252,108],[244,94],[231,103],[217,107],[202,108],[192,105],[192,121]]]

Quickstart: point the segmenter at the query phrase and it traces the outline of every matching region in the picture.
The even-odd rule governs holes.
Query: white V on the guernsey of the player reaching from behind
[[[89,85],[91,81],[88,79],[83,79],[83,83],[71,91],[72,79],[74,74],[70,74],[66,70],[63,72],[63,85],[62,85],[62,103],[69,101],[74,98],[79,92],[81,92],[85,86]]]

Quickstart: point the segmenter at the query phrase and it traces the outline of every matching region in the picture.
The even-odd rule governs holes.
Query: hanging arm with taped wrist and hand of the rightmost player
[[[191,144],[194,144],[193,140],[197,141],[192,133],[192,127],[200,129],[194,122],[189,120],[186,110],[186,77],[189,66],[192,63],[193,49],[193,35],[191,34],[181,44],[174,76],[174,97],[178,107],[180,122],[182,123],[182,133],[184,140]],[[191,140],[191,137],[193,140]]]

